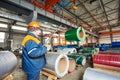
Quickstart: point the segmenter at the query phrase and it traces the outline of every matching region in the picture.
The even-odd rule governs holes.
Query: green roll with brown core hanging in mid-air
[[[65,32],[65,38],[68,41],[83,41],[86,38],[85,30],[82,27],[68,30]]]

